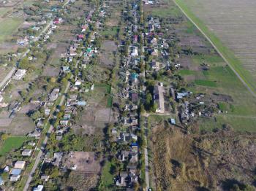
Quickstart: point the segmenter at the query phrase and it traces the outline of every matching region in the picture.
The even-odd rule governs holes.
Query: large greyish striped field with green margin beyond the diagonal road
[[[255,93],[255,1],[175,1]]]

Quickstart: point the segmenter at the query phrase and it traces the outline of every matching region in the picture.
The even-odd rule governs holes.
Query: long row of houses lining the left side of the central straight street
[[[121,88],[118,96],[126,103],[122,108],[119,117],[119,123],[122,124],[122,130],[113,128],[111,133],[116,137],[118,144],[129,144],[129,149],[121,149],[118,151],[118,160],[121,163],[126,163],[126,171],[121,171],[116,176],[115,183],[118,187],[126,187],[132,190],[135,184],[138,184],[140,171],[138,170],[138,154],[140,152],[138,146],[138,135],[136,132],[139,129],[138,118],[138,103],[140,100],[140,79],[139,74],[135,72],[138,68],[139,44],[138,36],[135,35],[138,31],[138,3],[132,4],[132,9],[129,10],[134,15],[130,25],[127,25],[126,32],[129,39],[133,39],[127,57],[123,57],[121,61],[120,76],[123,78],[124,87]]]

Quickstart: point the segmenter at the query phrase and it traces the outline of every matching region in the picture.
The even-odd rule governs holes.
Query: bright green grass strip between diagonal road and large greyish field
[[[203,21],[194,15],[194,13],[191,11],[191,9],[189,9],[187,4],[183,0],[173,1],[176,1],[176,4],[178,4],[178,6],[181,7],[184,12],[186,12],[188,17],[193,20],[194,23],[196,23],[198,28],[200,28],[200,30],[203,31],[203,33],[206,34],[209,39],[211,39],[211,42],[217,47],[219,52],[222,53],[223,57],[228,61],[228,63],[230,63],[230,66],[232,66],[233,69],[235,69],[236,72],[239,74],[241,79],[246,82],[246,85],[248,85],[252,89],[252,91],[256,92],[256,84],[251,74],[249,74],[249,71],[246,71],[246,69],[244,69],[241,61],[236,58],[234,53],[230,51],[227,47],[225,47],[225,45],[222,44],[222,42],[219,40],[219,38],[217,38],[214,33],[209,31],[208,27],[203,23]]]

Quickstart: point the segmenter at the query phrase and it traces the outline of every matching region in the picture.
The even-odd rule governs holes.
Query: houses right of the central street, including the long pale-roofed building
[[[144,4],[148,4],[148,1],[144,1]],[[147,31],[143,34],[146,41],[146,46],[143,47],[142,52],[146,55],[151,55],[151,61],[148,64],[150,69],[148,69],[147,75],[157,73],[160,70],[171,71],[172,65],[175,69],[180,69],[179,63],[172,63],[169,61],[170,56],[170,42],[172,38],[166,39],[165,34],[163,34],[161,29],[161,23],[159,17],[148,17]],[[136,42],[137,36],[134,37]],[[134,51],[136,52],[136,51]],[[176,58],[179,58],[176,55]],[[153,98],[154,104],[156,106],[156,113],[165,113],[165,95],[169,87],[164,87],[162,82],[154,86]],[[173,101],[178,102],[178,118],[181,124],[189,124],[195,121],[196,117],[212,117],[217,104],[213,104],[214,101],[206,102],[202,101],[203,95],[193,95],[192,92],[181,91],[173,89],[173,85],[170,85],[170,95],[173,97]],[[172,119],[172,124],[175,124],[175,119]]]

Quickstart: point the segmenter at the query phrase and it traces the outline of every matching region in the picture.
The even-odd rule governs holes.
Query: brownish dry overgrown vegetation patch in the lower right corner
[[[254,190],[256,135],[219,130],[195,136],[158,127],[152,134],[157,190]]]

